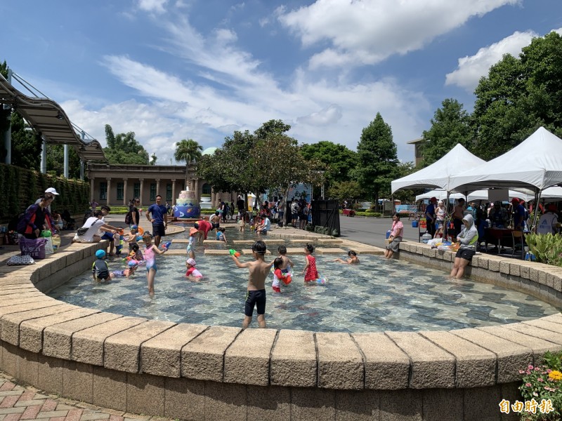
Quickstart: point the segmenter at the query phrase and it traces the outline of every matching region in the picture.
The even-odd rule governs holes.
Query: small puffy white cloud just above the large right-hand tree
[[[521,48],[528,46],[536,36],[533,31],[514,32],[495,44],[480,48],[475,55],[459,58],[457,69],[445,76],[445,85],[457,85],[473,92],[480,78],[487,76],[490,67],[502,60],[504,54],[518,57]]]

